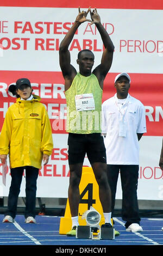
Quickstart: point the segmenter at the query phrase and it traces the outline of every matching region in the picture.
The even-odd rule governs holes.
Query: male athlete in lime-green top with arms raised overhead
[[[90,13],[91,20],[86,19],[88,13]],[[94,54],[90,50],[80,51],[77,59],[79,72],[77,72],[71,65],[68,47],[77,29],[85,21],[90,21],[90,25],[93,23],[96,25],[105,49],[101,64],[93,71]],[[105,226],[111,227],[111,192],[106,175],[106,154],[101,136],[100,116],[103,83],[110,70],[113,53],[114,45],[102,26],[97,10],[91,11],[89,8],[81,12],[79,8],[76,21],[61,41],[59,48],[60,68],[65,79],[67,102],[68,163],[70,166],[68,200],[72,216],[72,229],[67,233],[68,236],[75,236],[76,227],[79,225],[79,183],[85,154],[91,163],[99,186],[99,199],[104,212]]]

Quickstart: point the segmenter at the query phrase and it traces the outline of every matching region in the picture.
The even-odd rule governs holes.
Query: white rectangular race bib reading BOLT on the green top
[[[76,95],[75,102],[77,111],[95,110],[95,100],[92,93]]]

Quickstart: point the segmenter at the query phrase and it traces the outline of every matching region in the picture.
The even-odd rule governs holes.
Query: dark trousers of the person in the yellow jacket
[[[23,171],[26,169],[26,210],[25,218],[32,216],[35,217],[35,204],[36,204],[36,180],[39,174],[39,169],[27,166],[11,168],[11,186],[8,196],[8,210],[5,215],[10,215],[15,218],[17,211],[18,194],[22,182]]]

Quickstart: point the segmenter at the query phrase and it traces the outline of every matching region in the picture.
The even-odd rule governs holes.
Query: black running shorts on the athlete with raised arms
[[[68,163],[83,163],[85,154],[90,163],[106,163],[106,150],[101,133],[68,134]]]

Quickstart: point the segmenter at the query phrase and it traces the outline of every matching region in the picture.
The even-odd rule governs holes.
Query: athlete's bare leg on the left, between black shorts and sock
[[[82,177],[82,163],[70,164],[70,184],[68,187],[68,200],[70,204],[71,216],[78,216],[80,193],[79,184]]]

